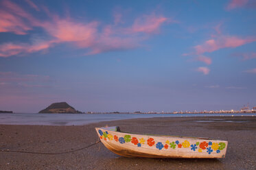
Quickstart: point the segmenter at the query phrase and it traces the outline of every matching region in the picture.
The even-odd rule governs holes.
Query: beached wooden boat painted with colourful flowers
[[[210,138],[132,134],[119,127],[95,127],[110,151],[125,157],[146,158],[224,158],[227,141]]]

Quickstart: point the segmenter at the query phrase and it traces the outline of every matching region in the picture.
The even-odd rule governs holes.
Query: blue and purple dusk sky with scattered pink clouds
[[[255,21],[255,0],[0,0],[0,110],[256,106]]]

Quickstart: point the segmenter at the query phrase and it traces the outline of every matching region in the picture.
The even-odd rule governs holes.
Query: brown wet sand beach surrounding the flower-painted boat
[[[70,151],[98,141],[94,127],[121,131],[200,136],[229,141],[226,158],[124,158],[102,143],[69,154],[40,155],[0,151],[0,169],[256,169],[256,117],[170,117],[130,119],[80,126],[0,125],[0,149]]]

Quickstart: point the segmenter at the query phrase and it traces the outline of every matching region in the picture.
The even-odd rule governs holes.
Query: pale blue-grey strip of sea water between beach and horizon
[[[38,114],[1,113],[1,125],[86,125],[101,121],[152,117],[256,117],[255,113],[233,114]]]

